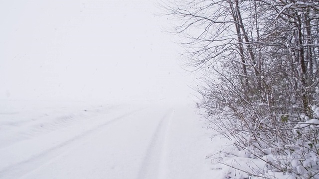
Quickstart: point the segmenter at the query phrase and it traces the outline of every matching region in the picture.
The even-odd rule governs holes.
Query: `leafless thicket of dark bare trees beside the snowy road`
[[[312,109],[319,100],[319,1],[167,0],[162,5],[176,20],[173,32],[181,35],[187,64],[204,74],[199,106],[207,118],[235,138],[239,149],[252,146],[260,159],[267,155],[264,149],[294,153],[312,172],[290,173],[318,175],[303,165],[307,152],[319,157],[309,147],[319,143],[318,128],[305,134],[295,129],[301,132],[302,122],[319,117]],[[280,172],[294,167],[279,161],[271,166]]]

